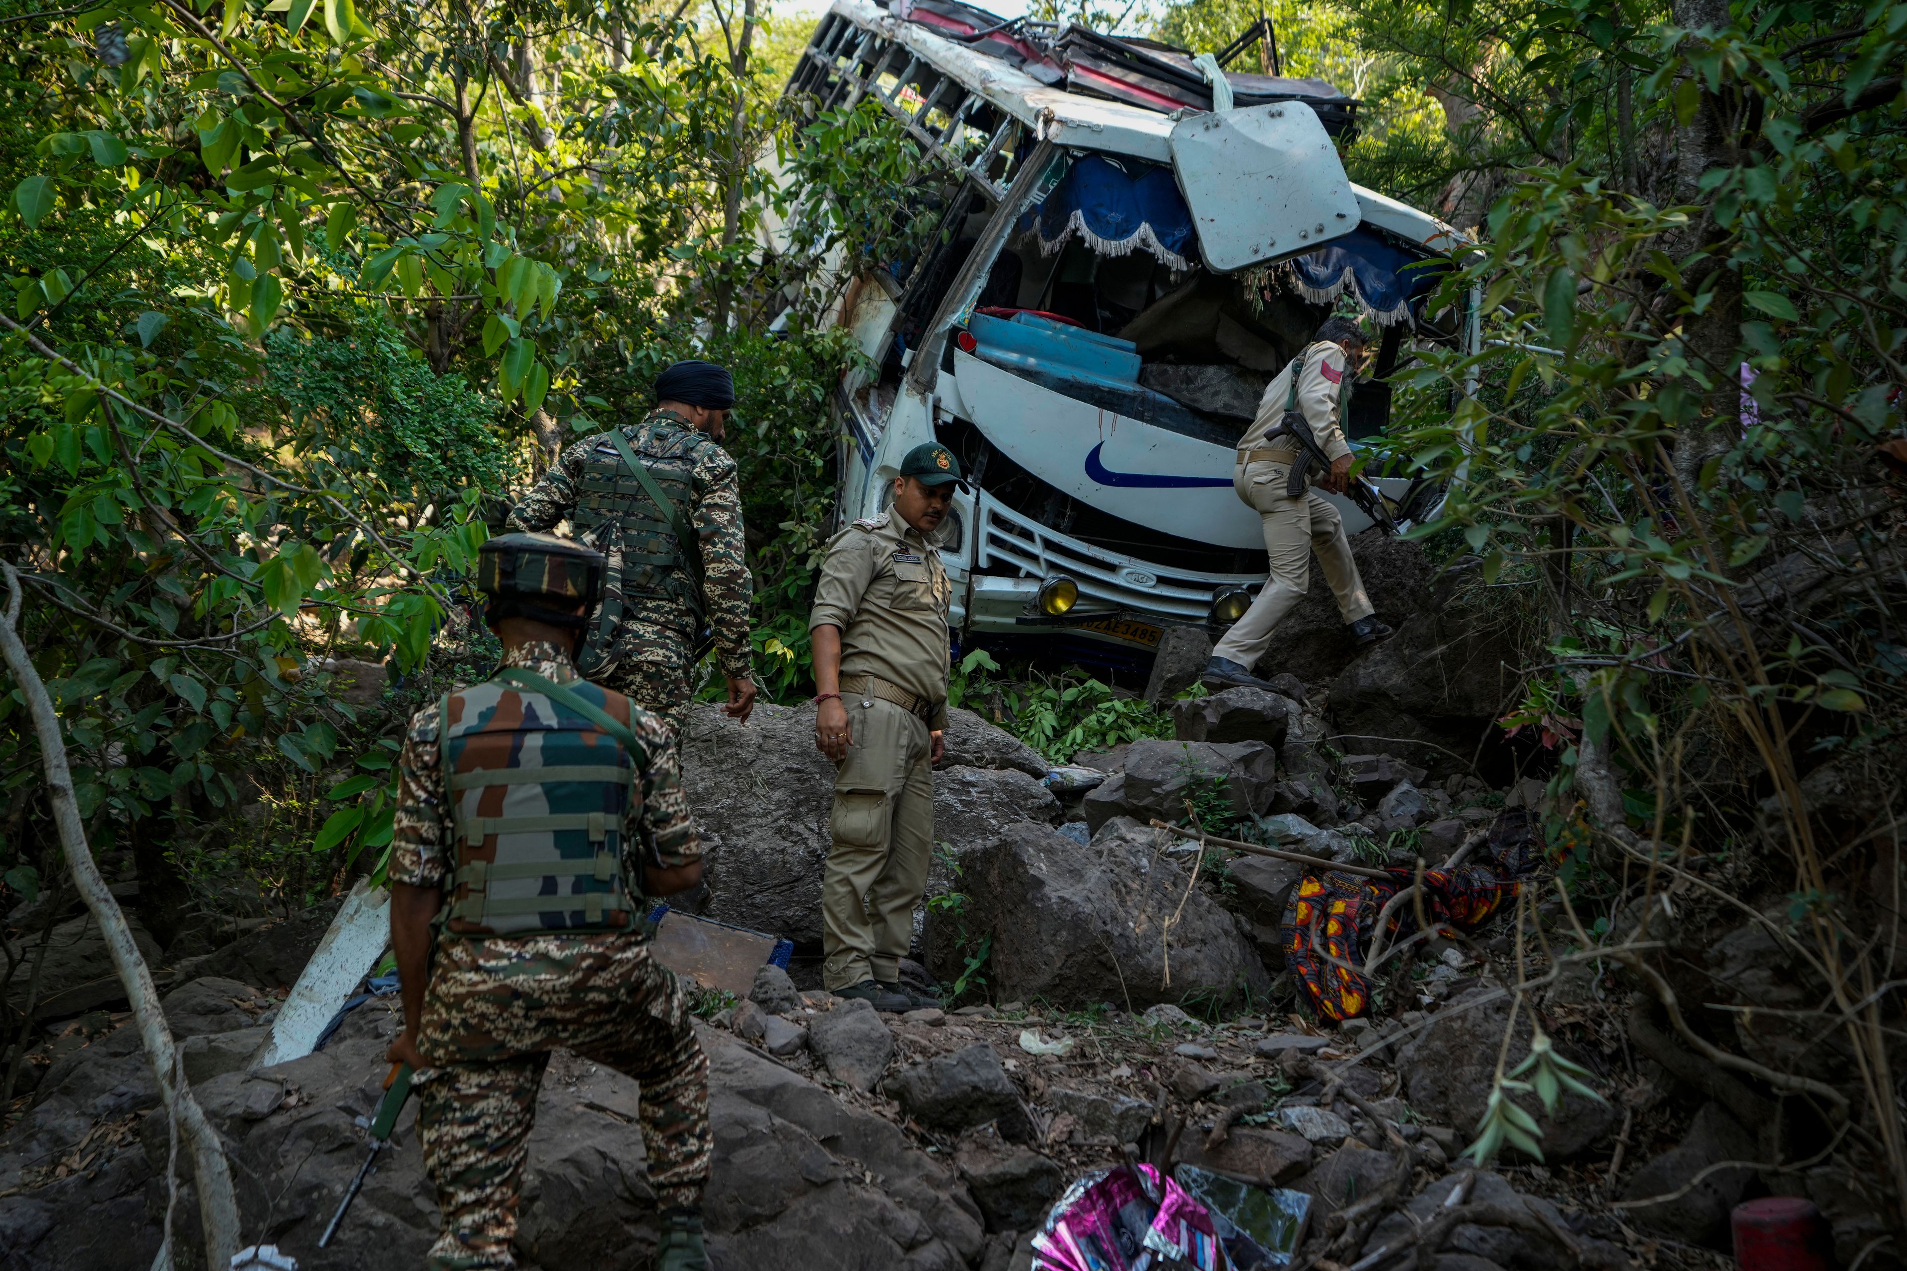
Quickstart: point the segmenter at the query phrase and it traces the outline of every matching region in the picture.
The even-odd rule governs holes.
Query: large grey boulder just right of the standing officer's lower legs
[[[1098,835],[1081,848],[1047,825],[1022,821],[967,856],[961,884],[963,913],[927,917],[929,968],[942,979],[961,970],[965,939],[992,936],[986,974],[1005,999],[1138,1010],[1270,991],[1238,922],[1158,852],[1156,831]]]

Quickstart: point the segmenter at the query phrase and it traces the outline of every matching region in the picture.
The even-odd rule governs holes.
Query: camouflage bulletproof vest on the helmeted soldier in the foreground
[[[612,720],[629,703],[566,684]],[[601,726],[502,680],[448,694],[439,747],[456,875],[441,915],[465,936],[631,930],[641,898],[622,871],[622,827],[641,812],[637,758]],[[643,760],[646,762],[646,758]]]

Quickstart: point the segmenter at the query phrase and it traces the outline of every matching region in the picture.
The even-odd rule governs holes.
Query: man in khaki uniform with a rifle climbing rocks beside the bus
[[[1331,494],[1343,494],[1352,457],[1343,427],[1350,410],[1346,379],[1356,373],[1364,347],[1364,330],[1348,318],[1331,318],[1320,326],[1318,339],[1266,385],[1259,415],[1238,442],[1232,490],[1264,520],[1264,551],[1272,574],[1245,615],[1232,623],[1211,652],[1200,678],[1213,692],[1238,686],[1272,690],[1251,669],[1272,646],[1278,623],[1310,589],[1312,553],[1331,583],[1350,638],[1362,648],[1392,635],[1364,595],[1344,520],[1329,499],[1308,488],[1291,497],[1291,465],[1299,459],[1299,448],[1285,436],[1274,436],[1287,410],[1302,414],[1320,450],[1331,459],[1331,471],[1314,480]]]

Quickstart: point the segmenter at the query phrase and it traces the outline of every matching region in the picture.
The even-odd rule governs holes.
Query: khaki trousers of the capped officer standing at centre
[[[822,873],[822,983],[892,983],[913,941],[934,840],[933,737],[881,697],[843,697],[852,741],[835,774]]]

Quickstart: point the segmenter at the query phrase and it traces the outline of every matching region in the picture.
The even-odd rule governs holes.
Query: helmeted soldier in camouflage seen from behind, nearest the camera
[[[418,1069],[442,1210],[433,1271],[515,1267],[555,1046],[641,1082],[656,1265],[709,1265],[707,1058],[639,926],[645,896],[700,880],[702,852],[669,730],[570,661],[601,577],[599,553],[547,534],[486,543],[479,587],[503,663],[418,711],[399,758],[389,877],[404,1031],[389,1058]]]

